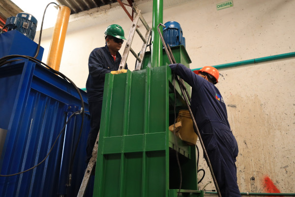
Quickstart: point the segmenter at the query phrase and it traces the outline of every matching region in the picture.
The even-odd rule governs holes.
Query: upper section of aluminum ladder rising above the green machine
[[[137,64],[136,64],[135,70],[139,70],[141,68],[142,63],[143,63],[143,59],[144,59],[144,56],[145,56],[145,52],[146,52],[146,49],[147,49],[147,45],[148,45],[148,39],[149,39],[149,36],[151,34],[151,28],[148,27],[148,24],[147,24],[146,20],[144,19],[144,17],[141,14],[141,10],[139,10],[138,7],[134,3],[133,3],[133,10],[135,12],[135,17],[134,17],[132,25],[131,25],[131,29],[130,29],[130,32],[129,32],[129,35],[128,35],[128,38],[127,38],[127,42],[126,42],[126,45],[125,45],[125,49],[124,49],[122,59],[121,59],[121,63],[120,63],[120,66],[119,66],[118,70],[121,70],[121,69],[125,68],[129,51],[131,51],[131,53],[137,59]],[[143,25],[145,26],[145,28],[147,30],[145,37],[138,30],[138,25],[137,24],[139,22],[139,19],[141,20],[141,22],[143,23]],[[138,33],[138,35],[141,37],[141,39],[144,42],[139,56],[131,48],[131,43],[133,41],[135,32]]]

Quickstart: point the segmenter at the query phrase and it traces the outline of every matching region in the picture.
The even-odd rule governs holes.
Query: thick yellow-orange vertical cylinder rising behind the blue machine
[[[54,27],[46,63],[48,66],[57,71],[59,71],[65,33],[69,23],[70,13],[70,8],[64,5],[59,5],[58,18]]]

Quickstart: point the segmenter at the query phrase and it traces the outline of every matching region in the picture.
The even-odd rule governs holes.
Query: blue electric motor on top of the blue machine
[[[36,29],[37,29],[37,19],[31,14],[21,12],[16,15],[7,18],[5,26],[7,31],[18,30],[23,33],[31,40],[34,40]]]

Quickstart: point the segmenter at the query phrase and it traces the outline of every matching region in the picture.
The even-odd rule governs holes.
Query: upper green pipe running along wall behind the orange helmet
[[[223,64],[223,65],[216,65],[213,67],[220,69],[220,68],[227,68],[227,67],[232,67],[232,66],[241,66],[241,65],[248,65],[248,64],[266,62],[266,61],[271,61],[271,60],[278,60],[278,59],[283,59],[283,58],[290,58],[290,57],[294,57],[294,56],[295,56],[295,52],[291,52],[291,53],[284,53],[284,54],[280,54],[280,55],[267,56],[267,57],[263,57],[263,58],[256,58],[256,59],[252,59],[252,60],[244,60],[244,61],[240,61],[240,62],[233,62],[233,63]],[[194,70],[199,70],[199,69],[201,69],[201,68],[195,68],[192,70],[194,71]]]

